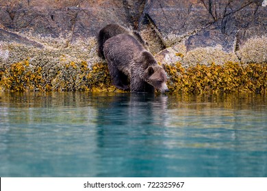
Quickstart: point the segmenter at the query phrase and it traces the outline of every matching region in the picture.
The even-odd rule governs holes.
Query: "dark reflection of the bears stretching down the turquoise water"
[[[99,158],[98,176],[127,177],[140,175],[141,172],[146,175],[146,172],[158,171],[160,165],[151,162],[157,158],[157,151],[147,153],[147,150],[149,147],[153,150],[155,145],[164,145],[162,134],[168,97],[129,93],[129,96],[110,98],[109,103],[99,108],[97,114],[95,153]],[[111,166],[117,167],[108,171]],[[129,171],[125,171],[125,166]]]

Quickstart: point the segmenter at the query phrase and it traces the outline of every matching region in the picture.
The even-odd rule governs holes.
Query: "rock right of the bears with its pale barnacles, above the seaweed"
[[[147,1],[140,28],[150,25],[158,37],[154,44],[172,47],[160,55],[167,63],[175,52],[185,55],[185,65],[266,62],[267,7],[262,5],[259,0]]]

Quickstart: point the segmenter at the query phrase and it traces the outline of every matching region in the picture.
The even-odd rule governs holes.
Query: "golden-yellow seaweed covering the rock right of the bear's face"
[[[227,62],[223,65],[166,65],[168,89],[176,93],[267,93],[266,63]]]

